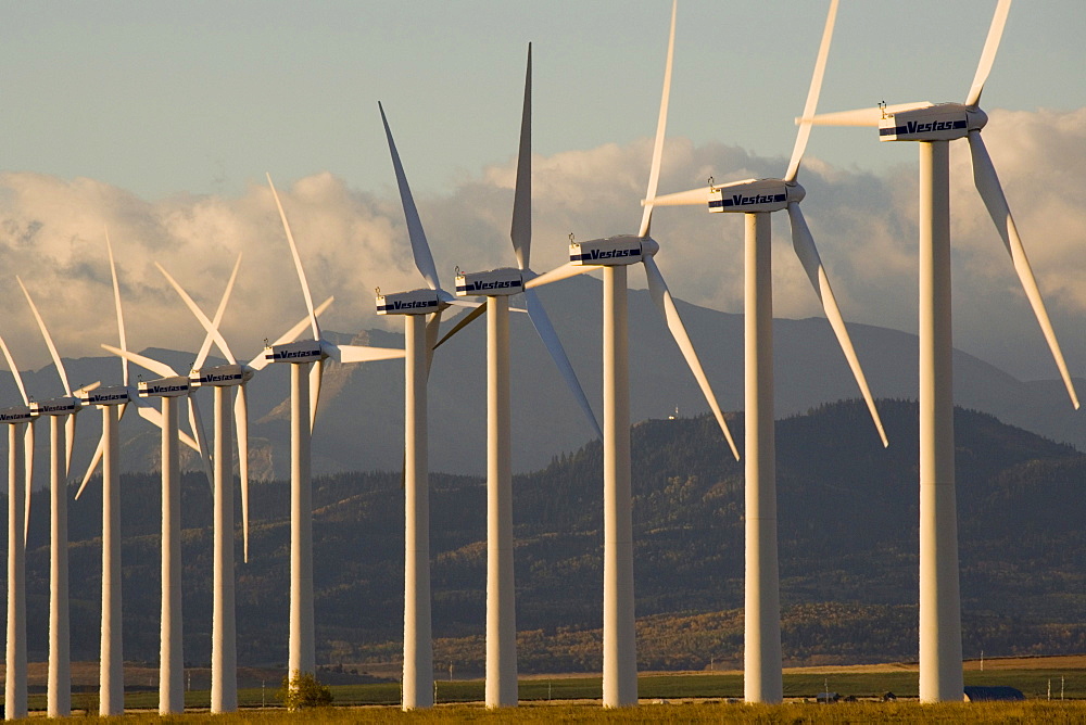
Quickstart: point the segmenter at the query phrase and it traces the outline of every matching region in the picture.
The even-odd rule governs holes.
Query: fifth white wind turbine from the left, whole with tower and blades
[[[232,289],[238,276],[241,255],[230,275],[227,289]],[[200,309],[199,305],[184,288],[161,265],[155,264],[159,271],[173,285],[185,302],[185,305],[199,320],[207,333],[205,344],[214,340],[219,352],[227,359],[226,365],[212,368],[193,369],[189,381],[193,386],[211,385],[215,390],[215,441],[212,446],[214,462],[214,565],[213,565],[213,614],[212,614],[212,654],[211,654],[211,711],[233,712],[238,709],[238,643],[237,613],[235,607],[235,573],[233,573],[233,495],[230,493],[232,466],[230,461],[230,387],[237,387],[238,394],[233,402],[233,423],[238,431],[238,472],[241,485],[241,530],[244,561],[249,561],[249,394],[247,385],[253,376],[267,366],[264,351],[248,364],[239,364],[229,344],[218,330],[223,313],[226,309],[228,295],[224,295],[211,320]],[[314,311],[320,315],[331,298],[326,300]],[[310,318],[303,318],[298,325],[279,338],[275,344],[292,342],[302,331],[310,327]]]

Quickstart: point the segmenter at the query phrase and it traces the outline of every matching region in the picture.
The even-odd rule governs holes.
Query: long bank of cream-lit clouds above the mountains
[[[984,138],[1014,211],[1058,333],[1082,370],[1086,351],[1071,342],[1086,311],[1086,109],[990,114]],[[861,131],[857,131],[861,132]],[[570,233],[578,239],[633,233],[641,219],[651,140],[567,151],[533,158],[532,266],[561,264]],[[671,139],[660,193],[746,177],[778,176],[786,158],[759,157],[723,144],[695,147]],[[1044,366],[1032,314],[1002,244],[972,188],[968,148],[955,144],[952,215],[956,331],[960,345],[988,352],[1014,370]],[[413,169],[407,169],[411,175]],[[421,170],[421,169],[419,169]],[[516,160],[460,179],[443,194],[417,198],[439,274],[453,268],[514,264],[509,243]],[[917,170],[875,175],[808,158],[800,171],[804,211],[819,243],[846,319],[915,329]],[[391,180],[390,180],[391,181]],[[330,329],[397,327],[379,318],[374,289],[420,287],[394,187],[382,194],[349,189],[331,174],[279,187],[315,301],[329,294]],[[820,314],[792,252],[786,216],[774,221],[774,308],[779,316]],[[0,174],[0,333],[22,366],[48,361],[13,276],[35,294],[65,356],[98,355],[116,340],[104,229],[118,260],[129,344],[195,349],[202,332],[153,263],[173,274],[205,309],[213,309],[238,253],[241,274],[224,319],[238,357],[255,355],[305,311],[286,238],[266,186],[239,196],[177,195],[149,202],[92,179],[31,173]],[[697,207],[654,215],[658,263],[673,293],[692,303],[741,311],[743,222]],[[640,272],[632,284],[642,287]],[[994,313],[994,310],[996,310]],[[1006,310],[1006,313],[1005,313]],[[1010,344],[1009,344],[1010,343]],[[1019,344],[1021,343],[1021,344]],[[1022,356],[1008,352],[1020,346]],[[1077,362],[1077,365],[1075,365]],[[1050,364],[1049,364],[1050,365]],[[1034,366],[1034,367],[1031,367]],[[1039,369],[1039,368],[1038,368]],[[1021,370],[1019,370],[1021,372]]]

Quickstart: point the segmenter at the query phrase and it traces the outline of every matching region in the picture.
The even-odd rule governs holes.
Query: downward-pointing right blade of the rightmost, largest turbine
[[[1045,334],[1048,348],[1052,352],[1056,367],[1060,369],[1060,377],[1063,378],[1063,385],[1068,389],[1071,403],[1077,410],[1078,395],[1075,393],[1074,383],[1071,382],[1071,373],[1068,372],[1068,365],[1063,360],[1063,352],[1056,339],[1056,330],[1052,329],[1052,322],[1048,319],[1048,310],[1045,309],[1045,301],[1040,296],[1040,289],[1033,276],[1033,268],[1025,255],[1025,247],[1022,245],[1018,227],[1014,225],[1014,217],[1011,216],[1010,206],[1007,205],[1007,198],[1003,195],[1002,186],[1000,186],[999,177],[996,175],[996,167],[992,164],[992,158],[988,156],[988,150],[984,147],[980,131],[969,132],[969,151],[973,157],[973,183],[976,185],[976,190],[981,193],[981,199],[984,200],[984,205],[988,208],[996,230],[1003,240],[1007,252],[1011,255],[1014,271],[1018,272],[1025,296],[1033,307],[1033,314],[1037,317],[1040,330]]]

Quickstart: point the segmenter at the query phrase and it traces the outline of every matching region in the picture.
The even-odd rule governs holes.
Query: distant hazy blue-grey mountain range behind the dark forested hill
[[[560,289],[540,291],[597,415],[602,399],[601,288],[598,280],[582,276],[564,282]],[[742,410],[743,317],[677,304],[721,407]],[[577,450],[592,432],[528,316],[514,315],[510,328],[513,461],[514,470],[528,472],[546,466],[555,455]],[[864,325],[851,325],[849,330],[872,392],[879,397],[914,399],[919,355],[915,335]],[[402,334],[383,330],[337,338],[389,347],[404,344]],[[778,319],[773,339],[778,417],[858,395],[825,319]],[[191,364],[191,355],[178,352],[151,349],[149,354],[161,356],[177,370],[187,370]],[[476,475],[485,472],[485,325],[481,322],[469,326],[435,353],[430,378],[432,470]],[[119,374],[118,362],[112,357],[79,358],[65,365],[74,384],[93,380],[110,383]],[[28,391],[39,397],[60,392],[52,366],[24,376]],[[399,470],[403,458],[403,364],[330,364],[325,380],[313,438],[314,472]],[[1086,390],[1082,381],[1078,384]],[[708,411],[644,290],[630,293],[630,387],[632,420],[662,418],[677,407],[684,416]],[[285,366],[268,366],[250,384],[252,470],[257,478],[283,478],[290,471],[288,390]],[[10,378],[0,380],[0,396],[17,398]],[[199,396],[210,403],[210,394]],[[1073,410],[1057,380],[1023,382],[956,351],[955,399],[958,405],[990,412],[1055,441],[1086,446],[1086,417]],[[85,411],[79,416],[79,427],[76,469],[86,465],[97,444],[100,416]],[[860,434],[872,438],[875,435],[873,428]],[[122,437],[125,470],[156,470],[155,429],[132,415],[122,424]],[[891,445],[897,445],[894,438]],[[45,458],[39,457],[39,482],[48,476]],[[195,469],[191,457],[186,466]]]

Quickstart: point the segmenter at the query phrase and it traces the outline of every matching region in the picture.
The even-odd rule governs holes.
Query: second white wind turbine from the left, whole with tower
[[[61,397],[30,403],[30,410],[35,416],[49,416],[49,674],[46,685],[46,713],[50,717],[66,717],[72,714],[67,473],[72,462],[72,446],[75,442],[75,417],[83,408],[83,402],[78,396],[97,387],[98,383],[86,385],[73,393],[64,362],[56,353],[37,305],[34,304],[23,280],[18,277],[15,279],[23,288],[23,294],[26,295],[34,319],[41,330],[41,336],[49,348],[53,365],[56,366],[56,374],[60,376],[65,393]]]

